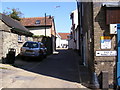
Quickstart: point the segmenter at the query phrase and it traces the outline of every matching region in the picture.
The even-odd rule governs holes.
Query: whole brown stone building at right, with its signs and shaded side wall
[[[81,62],[88,67],[91,82],[98,82],[96,77],[102,71],[108,71],[109,85],[113,86],[117,42],[116,34],[110,33],[110,24],[120,23],[119,2],[78,2],[77,4]]]

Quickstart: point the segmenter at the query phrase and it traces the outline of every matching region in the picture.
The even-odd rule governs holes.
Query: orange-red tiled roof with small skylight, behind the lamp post
[[[46,26],[52,26],[52,17],[46,17]],[[36,21],[40,20],[40,24]],[[21,18],[21,24],[24,26],[45,26],[45,17]]]

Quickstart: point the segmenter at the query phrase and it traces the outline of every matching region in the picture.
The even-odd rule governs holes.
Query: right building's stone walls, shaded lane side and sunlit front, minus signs
[[[109,84],[113,85],[116,56],[96,56],[96,51],[116,50],[116,35],[110,35],[109,25],[106,25],[105,7],[102,7],[102,2],[83,2],[82,7],[80,12],[82,62],[86,62],[89,70],[97,75],[101,71],[108,71]],[[111,37],[111,49],[101,49],[101,36]]]

